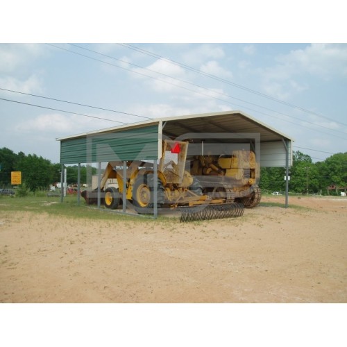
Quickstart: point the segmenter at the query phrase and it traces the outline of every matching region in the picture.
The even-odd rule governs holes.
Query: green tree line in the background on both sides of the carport
[[[22,183],[35,192],[38,189],[48,189],[49,185],[60,182],[61,165],[35,154],[14,153],[3,147],[0,149],[0,188],[10,187],[11,171],[22,171]],[[289,171],[289,192],[327,194],[327,187],[330,185],[347,187],[347,152],[336,153],[323,162],[314,163],[310,155],[294,151],[293,166]],[[77,183],[77,174],[77,165],[67,167],[67,183]],[[92,174],[96,174],[94,167]],[[81,183],[87,183],[85,166],[81,166]],[[284,192],[285,168],[262,168],[260,188],[269,192]]]

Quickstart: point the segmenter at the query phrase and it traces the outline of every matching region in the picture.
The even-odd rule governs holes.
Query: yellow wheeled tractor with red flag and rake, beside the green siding
[[[201,183],[185,168],[189,143],[165,139],[162,158],[158,163],[158,179],[154,182],[153,164],[128,161],[126,177],[123,162],[108,162],[101,177],[101,201],[106,208],[116,209],[123,198],[131,201],[139,214],[153,214],[155,185],[158,208],[178,208],[181,221],[239,217],[244,212],[242,203],[229,201],[227,196],[203,194]],[[117,179],[118,187],[107,187],[110,178]],[[96,203],[96,191],[82,192],[87,204]]]

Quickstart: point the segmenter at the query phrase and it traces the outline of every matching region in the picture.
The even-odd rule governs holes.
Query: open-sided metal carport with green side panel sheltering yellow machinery
[[[165,137],[190,139],[191,153],[201,152],[208,146],[247,145],[255,151],[260,167],[286,167],[287,207],[293,139],[241,111],[157,118],[60,137],[57,139],[60,141],[60,164],[78,164],[79,167],[81,163],[97,162],[100,169],[101,162],[121,161],[126,170],[127,160],[153,160],[156,171],[162,151],[161,140]]]

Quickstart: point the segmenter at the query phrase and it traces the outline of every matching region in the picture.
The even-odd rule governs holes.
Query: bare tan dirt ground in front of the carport
[[[346,303],[347,198],[289,205],[198,223],[0,210],[0,302]]]

